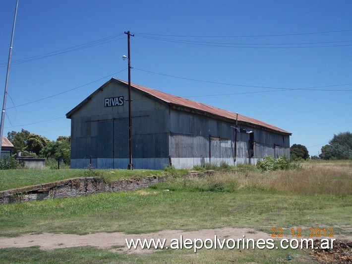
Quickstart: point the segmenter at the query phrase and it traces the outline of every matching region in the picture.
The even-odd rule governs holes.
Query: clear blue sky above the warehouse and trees
[[[0,0],[1,102],[15,4]],[[310,155],[352,131],[350,0],[19,0],[4,135],[69,135],[67,112],[127,80],[128,30],[132,83],[275,125]]]

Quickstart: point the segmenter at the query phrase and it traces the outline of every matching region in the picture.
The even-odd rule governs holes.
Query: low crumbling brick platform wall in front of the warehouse
[[[105,192],[133,191],[163,182],[165,178],[156,176],[119,180],[112,184],[103,178],[74,178],[55,183],[29,186],[0,192],[0,204],[88,196]]]

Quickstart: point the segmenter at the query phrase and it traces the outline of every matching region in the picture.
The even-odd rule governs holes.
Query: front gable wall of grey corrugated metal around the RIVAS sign
[[[104,107],[104,98],[120,95],[126,96],[125,87],[111,83],[85,104],[84,111],[72,115],[72,168],[86,167],[90,156],[97,168],[127,167],[128,104]],[[169,155],[169,109],[141,94],[132,93],[132,99],[133,165],[151,169],[165,166]]]

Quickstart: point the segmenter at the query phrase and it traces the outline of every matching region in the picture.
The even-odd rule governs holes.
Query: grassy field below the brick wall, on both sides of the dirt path
[[[220,171],[212,176],[176,177],[134,192],[0,205],[0,236],[43,232],[144,234],[222,227],[249,227],[268,234],[272,228],[283,228],[289,234],[291,228],[301,227],[302,234],[308,235],[310,227],[319,227],[334,228],[336,237],[351,237],[352,163],[304,162],[301,167],[266,173]],[[15,174],[6,177],[6,181],[18,181]],[[48,174],[45,179],[48,177],[52,176]],[[14,183],[2,185],[16,186]],[[126,254],[93,247],[0,249],[0,263],[283,263],[288,254],[293,257],[290,263],[314,263],[305,250]]]

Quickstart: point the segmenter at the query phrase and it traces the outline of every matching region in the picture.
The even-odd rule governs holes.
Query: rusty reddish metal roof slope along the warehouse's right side
[[[126,82],[126,81],[119,80],[119,79],[116,79],[116,78],[113,78],[113,79],[118,80],[120,82],[123,82],[125,84],[128,84],[128,82]],[[162,100],[162,101],[164,101],[166,103],[169,103],[169,104],[174,104],[174,105],[178,105],[178,106],[182,106],[182,107],[196,109],[196,110],[199,110],[199,111],[204,111],[204,112],[207,112],[207,113],[219,116],[219,117],[229,118],[229,119],[232,119],[234,121],[236,120],[236,113],[234,113],[234,112],[230,112],[230,111],[227,111],[227,110],[224,110],[224,109],[220,109],[220,108],[217,108],[217,107],[214,107],[214,106],[211,106],[211,105],[206,105],[206,104],[203,104],[203,103],[200,103],[200,102],[195,102],[195,101],[192,101],[192,100],[188,100],[186,98],[182,98],[182,97],[178,97],[178,96],[171,95],[171,94],[168,94],[168,93],[164,93],[164,92],[161,92],[161,91],[158,91],[158,90],[154,90],[154,89],[151,89],[151,88],[148,88],[148,87],[145,87],[145,86],[141,86],[141,85],[138,85],[138,84],[132,84],[131,83],[131,87],[134,87],[134,88],[136,88],[138,90],[146,92],[146,93],[148,93],[148,94],[150,94],[150,95],[152,95],[154,97],[157,97],[160,100]],[[260,127],[271,129],[271,130],[275,130],[277,132],[292,134],[291,132],[288,132],[286,130],[280,129],[280,128],[275,127],[273,125],[270,125],[268,123],[262,122],[260,120],[254,119],[254,118],[246,117],[246,116],[243,116],[243,115],[240,115],[240,114],[238,114],[238,121],[239,122],[250,123],[250,124],[257,125],[257,126],[260,126]]]

